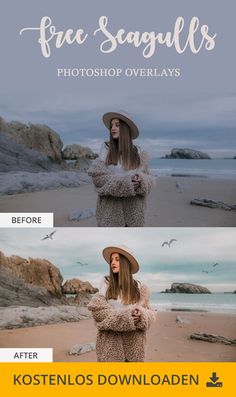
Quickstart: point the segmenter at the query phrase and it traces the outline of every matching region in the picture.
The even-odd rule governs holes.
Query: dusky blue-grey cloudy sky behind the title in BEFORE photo
[[[217,4],[216,4],[217,3]],[[0,24],[0,115],[7,121],[48,124],[65,144],[80,143],[95,151],[107,138],[101,116],[126,110],[140,127],[139,144],[152,157],[173,147],[190,147],[212,157],[230,157],[236,148],[235,1],[225,0],[4,0]],[[14,9],[14,12],[12,10]],[[83,28],[88,40],[81,46],[60,49],[50,42],[52,55],[42,56],[38,27],[50,16],[57,30]],[[193,16],[217,34],[213,51],[190,50],[182,55],[159,46],[145,59],[142,49],[118,46],[103,54],[102,34],[93,36],[101,15],[106,15],[115,35],[128,31],[173,31],[176,18]],[[184,37],[187,30],[183,32]],[[199,40],[199,36],[197,36]],[[57,68],[180,68],[179,78],[58,78]]]

